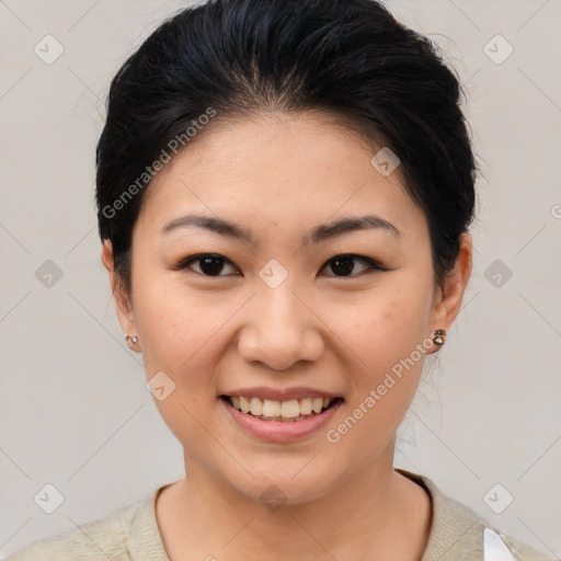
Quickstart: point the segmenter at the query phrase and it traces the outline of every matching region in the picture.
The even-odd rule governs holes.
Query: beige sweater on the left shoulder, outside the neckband
[[[137,502],[71,531],[33,541],[7,561],[129,561],[128,528],[144,504]]]

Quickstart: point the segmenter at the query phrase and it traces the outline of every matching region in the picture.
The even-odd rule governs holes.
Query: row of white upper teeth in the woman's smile
[[[250,413],[260,419],[270,419],[282,421],[284,419],[300,419],[301,415],[309,416],[321,413],[333,402],[330,398],[304,398],[291,399],[289,401],[275,401],[261,398],[229,398],[231,404],[242,413]]]

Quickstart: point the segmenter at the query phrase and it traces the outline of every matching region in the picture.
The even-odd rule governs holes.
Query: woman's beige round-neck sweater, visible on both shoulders
[[[433,519],[421,561],[483,561],[485,527],[501,536],[516,561],[561,561],[559,557],[505,536],[473,511],[443,494],[428,478],[399,468],[397,471],[431,495]],[[82,524],[80,529],[34,541],[7,561],[170,561],[154,508],[156,497],[163,486],[111,516]],[[496,560],[495,557],[492,561]]]

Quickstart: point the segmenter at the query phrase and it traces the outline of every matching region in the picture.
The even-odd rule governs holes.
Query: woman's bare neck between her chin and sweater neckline
[[[267,506],[186,458],[188,477],[163,492],[157,516],[171,561],[244,559],[420,560],[431,503],[396,472],[393,447],[322,496]]]

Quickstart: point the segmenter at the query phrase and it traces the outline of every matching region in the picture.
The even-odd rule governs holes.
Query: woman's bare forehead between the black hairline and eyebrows
[[[403,232],[419,229],[424,216],[399,169],[382,175],[373,165],[379,150],[324,114],[217,119],[152,180],[138,225],[162,227],[204,211],[252,230],[302,232],[340,215],[374,213]]]

